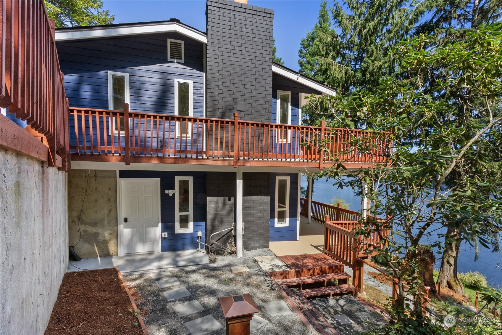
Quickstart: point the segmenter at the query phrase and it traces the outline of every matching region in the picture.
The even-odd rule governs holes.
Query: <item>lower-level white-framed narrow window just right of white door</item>
[[[175,230],[174,232],[193,232],[193,177],[175,177]]]

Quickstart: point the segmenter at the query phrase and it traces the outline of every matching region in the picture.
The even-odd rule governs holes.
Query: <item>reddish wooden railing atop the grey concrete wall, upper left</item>
[[[0,106],[45,136],[49,164],[67,170],[68,102],[54,21],[43,1],[0,1],[0,12]]]

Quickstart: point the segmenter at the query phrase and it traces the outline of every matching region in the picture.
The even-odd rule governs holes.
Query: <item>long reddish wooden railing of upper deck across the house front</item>
[[[335,139],[330,150],[344,151],[330,154],[339,153],[347,162],[381,162],[388,150],[388,146],[379,146],[370,152],[357,152],[345,150],[342,143],[336,142],[368,136],[361,130],[243,121],[237,114],[233,120],[182,117],[129,111],[128,104],[123,112],[70,108],[69,114],[71,152],[81,157],[75,157],[77,160],[88,155],[95,160],[121,156],[126,163],[131,157],[183,157],[219,159],[220,163],[234,166],[270,165],[273,161],[300,165],[310,162],[321,167],[329,161],[325,152],[316,145],[302,143],[319,141],[322,136]],[[113,129],[117,124],[123,125],[120,133]]]

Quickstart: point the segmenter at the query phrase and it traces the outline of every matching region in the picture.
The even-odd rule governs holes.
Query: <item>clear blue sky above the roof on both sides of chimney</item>
[[[300,40],[317,22],[320,1],[317,0],[248,0],[249,5],[275,11],[274,37],[277,55],[284,65],[298,70]],[[206,2],[202,0],[105,0],[103,9],[115,16],[113,23],[162,21],[177,18],[181,22],[206,31]]]

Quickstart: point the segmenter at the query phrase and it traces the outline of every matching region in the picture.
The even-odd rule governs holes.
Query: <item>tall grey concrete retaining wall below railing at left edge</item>
[[[67,174],[2,148],[0,333],[43,334],[68,265]]]

